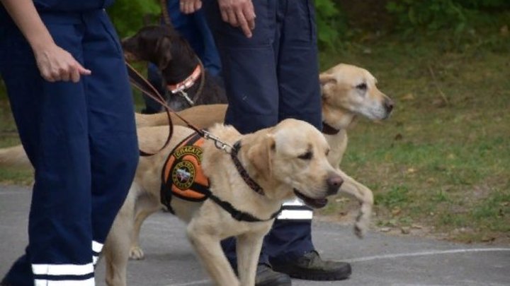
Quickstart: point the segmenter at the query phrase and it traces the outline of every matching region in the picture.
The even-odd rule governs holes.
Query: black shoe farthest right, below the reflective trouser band
[[[344,280],[351,275],[349,263],[324,261],[317,251],[308,252],[288,263],[273,263],[271,261],[271,265],[275,271],[303,280]]]

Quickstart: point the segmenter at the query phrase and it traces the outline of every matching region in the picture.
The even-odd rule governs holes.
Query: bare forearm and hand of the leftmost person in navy
[[[91,71],[53,41],[32,0],[0,0],[32,47],[40,74],[46,81],[73,81]]]

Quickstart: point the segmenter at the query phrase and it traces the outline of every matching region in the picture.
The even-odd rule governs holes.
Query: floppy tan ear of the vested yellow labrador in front
[[[271,174],[273,174],[272,158],[275,150],[276,141],[271,134],[267,134],[248,151],[249,162],[263,177],[271,178]]]

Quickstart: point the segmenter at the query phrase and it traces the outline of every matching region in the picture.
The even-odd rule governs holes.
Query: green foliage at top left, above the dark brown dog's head
[[[115,0],[108,8],[108,15],[120,37],[133,35],[145,21],[156,23],[160,13],[157,0]]]

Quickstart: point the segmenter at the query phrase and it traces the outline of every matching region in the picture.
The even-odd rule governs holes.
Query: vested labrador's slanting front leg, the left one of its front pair
[[[239,280],[221,248],[220,238],[208,234],[193,222],[191,220],[188,225],[188,239],[215,285],[239,286]]]

